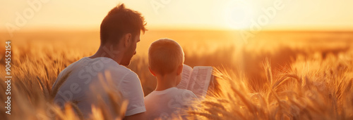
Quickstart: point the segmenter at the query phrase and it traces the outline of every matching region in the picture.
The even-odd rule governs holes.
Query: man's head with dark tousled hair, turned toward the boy
[[[136,54],[136,44],[140,41],[140,32],[145,32],[145,18],[137,11],[125,8],[120,4],[105,16],[100,25],[100,46],[108,46],[114,50],[122,49],[124,57],[121,65],[129,65]],[[109,49],[108,48],[108,49]]]

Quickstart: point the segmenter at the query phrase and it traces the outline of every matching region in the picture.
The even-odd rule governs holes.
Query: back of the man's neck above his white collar
[[[121,59],[123,58],[123,55],[121,53],[122,52],[110,49],[107,46],[100,46],[100,48],[95,53],[95,55],[92,55],[88,58],[92,58],[92,59],[99,58],[99,57],[111,58],[112,60],[114,60],[116,63],[120,65]]]

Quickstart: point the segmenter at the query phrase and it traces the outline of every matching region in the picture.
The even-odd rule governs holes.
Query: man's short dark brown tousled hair
[[[100,25],[100,44],[112,43],[116,44],[124,34],[136,34],[140,31],[145,32],[145,18],[138,13],[125,8],[124,4],[120,4],[109,11],[108,15]]]

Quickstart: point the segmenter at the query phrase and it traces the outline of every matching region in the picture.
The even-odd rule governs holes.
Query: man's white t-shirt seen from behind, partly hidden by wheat
[[[113,86],[116,86],[116,90],[121,93],[123,98],[128,100],[125,116],[145,112],[144,94],[140,79],[135,72],[119,65],[114,60],[105,57],[93,59],[85,57],[73,62],[60,72],[53,88],[59,79],[69,71],[71,71],[71,74],[59,88],[54,98],[57,105],[64,106],[64,103],[68,101],[78,102],[78,108],[85,118],[88,118],[89,114],[92,113],[92,105],[97,106],[97,96],[99,95],[108,107],[112,107],[98,77],[98,73],[104,74],[104,72],[109,71],[110,78],[114,83]],[[106,79],[109,76],[103,75],[103,77]],[[112,115],[116,116],[115,113],[112,113]]]

